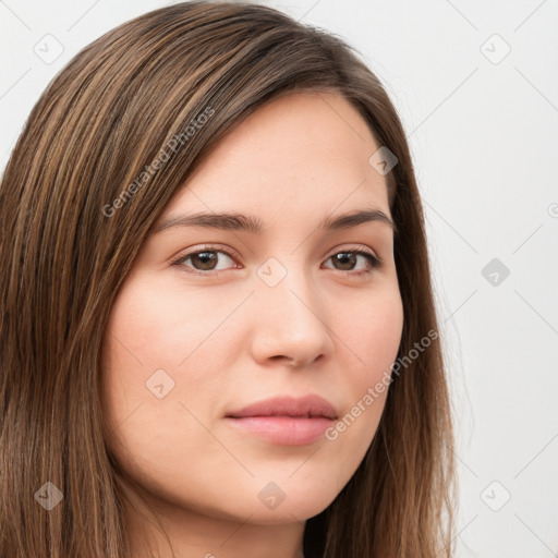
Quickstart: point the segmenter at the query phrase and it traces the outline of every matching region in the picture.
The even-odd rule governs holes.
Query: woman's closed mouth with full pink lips
[[[318,396],[267,399],[225,416],[229,425],[244,434],[280,446],[317,441],[337,418],[331,403]]]

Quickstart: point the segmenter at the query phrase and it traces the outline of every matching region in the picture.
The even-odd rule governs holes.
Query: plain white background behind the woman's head
[[[0,168],[82,47],[168,3],[0,0]],[[262,3],[355,46],[403,120],[454,400],[459,558],[556,556],[558,1]]]

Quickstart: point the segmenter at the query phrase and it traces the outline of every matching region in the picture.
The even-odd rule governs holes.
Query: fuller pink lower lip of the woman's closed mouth
[[[325,416],[227,416],[227,421],[244,432],[281,446],[305,446],[324,437],[333,421]]]

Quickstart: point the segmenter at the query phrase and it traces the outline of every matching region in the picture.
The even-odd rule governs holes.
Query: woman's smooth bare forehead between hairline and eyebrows
[[[232,130],[171,199],[182,210],[252,213],[264,221],[374,205],[389,214],[378,145],[359,111],[335,93],[296,93]]]

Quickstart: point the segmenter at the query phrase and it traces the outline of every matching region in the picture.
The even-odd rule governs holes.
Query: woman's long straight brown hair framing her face
[[[11,154],[0,185],[0,555],[130,556],[128,496],[99,397],[112,301],[211,147],[264,104],[299,90],[343,95],[398,159],[386,178],[404,311],[398,355],[408,361],[357,471],[306,522],[305,557],[452,556],[451,405],[402,124],[340,38],[271,8],[210,1],[153,11],[84,48],[45,90]]]

